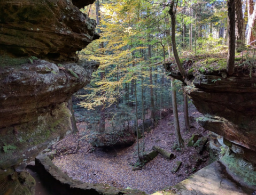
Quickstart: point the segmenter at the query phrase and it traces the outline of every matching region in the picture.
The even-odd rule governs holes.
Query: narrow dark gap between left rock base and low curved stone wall
[[[40,177],[38,174],[35,172],[34,168],[26,168],[27,172],[34,177],[36,181],[36,186],[35,186],[35,195],[55,195],[51,193],[46,186],[43,185],[41,182]]]

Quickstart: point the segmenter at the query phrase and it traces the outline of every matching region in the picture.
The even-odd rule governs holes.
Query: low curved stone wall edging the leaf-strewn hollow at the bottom
[[[69,194],[90,194],[90,195],[145,195],[139,190],[129,190],[114,188],[107,184],[92,184],[83,183],[79,180],[73,180],[65,173],[53,165],[49,157],[40,155],[36,157],[35,165],[37,173],[41,178],[44,178],[44,183],[55,194],[69,195]]]

